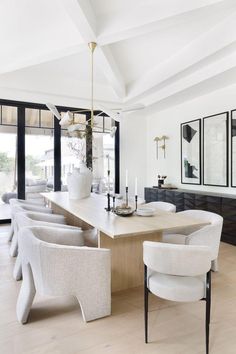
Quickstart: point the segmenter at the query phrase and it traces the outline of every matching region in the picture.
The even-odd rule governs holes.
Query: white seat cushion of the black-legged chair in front
[[[148,288],[153,294],[166,300],[198,301],[205,297],[205,275],[181,277],[151,271]]]

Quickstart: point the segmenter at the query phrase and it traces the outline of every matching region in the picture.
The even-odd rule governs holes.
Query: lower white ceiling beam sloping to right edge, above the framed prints
[[[151,90],[165,83],[175,75],[184,72],[196,63],[227,47],[236,40],[236,13],[220,22],[207,33],[190,42],[174,56],[150,70],[140,79],[128,86],[126,102],[143,99]]]

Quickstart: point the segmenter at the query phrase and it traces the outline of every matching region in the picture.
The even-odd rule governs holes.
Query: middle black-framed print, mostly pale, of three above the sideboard
[[[203,184],[227,187],[229,113],[203,118]]]

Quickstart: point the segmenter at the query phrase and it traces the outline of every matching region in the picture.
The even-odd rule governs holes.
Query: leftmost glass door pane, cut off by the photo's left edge
[[[0,125],[0,219],[10,219],[9,198],[17,197],[16,127]]]

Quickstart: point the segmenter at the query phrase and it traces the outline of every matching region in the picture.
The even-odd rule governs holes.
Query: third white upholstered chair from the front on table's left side
[[[47,208],[44,205],[38,205],[34,202],[28,202],[27,200],[12,198],[9,201],[10,209],[11,209],[11,228],[9,231],[8,242],[12,241],[14,235],[14,216],[17,212],[18,208],[23,208],[23,210],[29,211],[36,211],[41,213],[52,213],[52,209]]]

